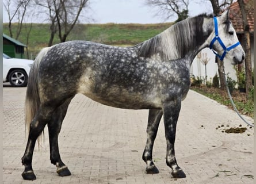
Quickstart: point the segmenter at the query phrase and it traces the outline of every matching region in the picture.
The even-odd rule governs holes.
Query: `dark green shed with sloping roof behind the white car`
[[[10,57],[25,58],[24,47],[27,46],[3,33],[3,53]]]

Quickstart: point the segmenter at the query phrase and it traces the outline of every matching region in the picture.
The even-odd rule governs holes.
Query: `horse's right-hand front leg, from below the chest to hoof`
[[[163,108],[163,118],[165,123],[165,136],[166,136],[166,164],[172,170],[171,175],[174,178],[185,178],[186,175],[184,171],[178,166],[175,151],[175,133],[176,125],[179,117],[179,111],[181,110],[181,100],[176,99],[174,101],[168,102]]]

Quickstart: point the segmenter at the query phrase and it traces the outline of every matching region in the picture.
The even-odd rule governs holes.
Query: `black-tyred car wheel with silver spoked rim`
[[[28,84],[28,75],[24,70],[16,69],[10,72],[9,82],[15,87],[24,87]]]

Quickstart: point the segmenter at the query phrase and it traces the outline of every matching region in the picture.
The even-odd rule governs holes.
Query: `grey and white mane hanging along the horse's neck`
[[[189,49],[200,47],[208,37],[202,28],[204,18],[212,15],[201,14],[187,18],[170,26],[164,32],[136,45],[140,57],[161,57],[162,60],[181,59]]]

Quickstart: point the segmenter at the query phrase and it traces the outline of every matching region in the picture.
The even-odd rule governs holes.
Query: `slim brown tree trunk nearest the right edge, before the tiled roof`
[[[253,1],[250,1],[249,3],[252,3],[251,7],[253,7]],[[238,0],[238,4],[240,7],[240,11],[242,14],[242,20],[243,20],[243,40],[244,40],[244,51],[246,54],[244,64],[245,64],[245,71],[246,71],[246,97],[248,99],[250,89],[253,87],[253,82],[251,79],[251,48],[250,48],[250,29],[249,24],[247,21],[247,10],[244,5],[243,0]]]

